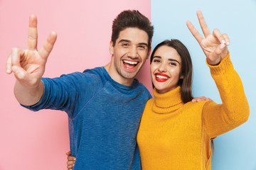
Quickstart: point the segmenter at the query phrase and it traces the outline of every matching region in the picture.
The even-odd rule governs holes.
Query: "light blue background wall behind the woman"
[[[250,104],[249,120],[214,140],[212,169],[256,169],[256,0],[151,0],[151,21],[155,29],[153,47],[166,39],[181,40],[193,60],[193,96],[207,96],[221,103],[218,89],[206,66],[206,57],[186,27],[189,20],[203,35],[196,16],[198,10],[203,12],[211,32],[218,28],[221,33],[228,34],[230,58],[242,79]]]

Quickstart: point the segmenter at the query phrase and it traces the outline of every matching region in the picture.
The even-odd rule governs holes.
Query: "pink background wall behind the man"
[[[0,0],[0,170],[66,169],[67,115],[22,108],[13,93],[14,75],[5,73],[11,48],[26,47],[28,16],[38,16],[38,49],[51,30],[58,33],[44,77],[59,77],[110,62],[112,20],[125,9],[138,9],[151,18],[146,0]],[[149,61],[138,78],[151,90]]]

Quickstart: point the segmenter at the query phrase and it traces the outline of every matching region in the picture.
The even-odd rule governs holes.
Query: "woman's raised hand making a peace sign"
[[[196,14],[205,38],[198,33],[190,21],[187,21],[186,25],[205,53],[208,64],[219,64],[228,55],[227,46],[230,45],[228,35],[221,34],[218,29],[213,30],[213,34],[211,34],[201,11],[197,11]]]

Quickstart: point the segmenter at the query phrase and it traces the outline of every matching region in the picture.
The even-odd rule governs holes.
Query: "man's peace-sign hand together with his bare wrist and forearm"
[[[37,18],[31,15],[28,28],[28,48],[13,48],[6,61],[6,73],[14,72],[16,84],[14,94],[19,103],[31,106],[38,103],[43,95],[41,78],[45,72],[46,62],[57,39],[55,32],[50,33],[41,48],[37,50]]]

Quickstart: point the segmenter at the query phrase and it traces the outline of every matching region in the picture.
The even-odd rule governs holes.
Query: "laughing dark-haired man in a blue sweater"
[[[153,27],[139,11],[123,11],[114,19],[111,61],[105,67],[42,78],[57,38],[50,33],[37,50],[37,19],[31,16],[28,49],[14,48],[6,72],[14,72],[14,94],[31,111],[68,113],[70,148],[75,169],[140,169],[137,130],[149,91],[134,77],[151,50]]]

